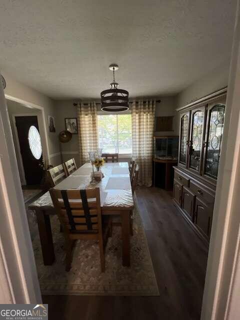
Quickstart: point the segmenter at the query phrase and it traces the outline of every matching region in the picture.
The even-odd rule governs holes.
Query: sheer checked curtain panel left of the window
[[[97,139],[97,110],[96,103],[88,102],[88,105],[78,103],[77,105],[78,124],[78,152],[80,165],[89,161],[88,152],[96,151],[98,148]]]

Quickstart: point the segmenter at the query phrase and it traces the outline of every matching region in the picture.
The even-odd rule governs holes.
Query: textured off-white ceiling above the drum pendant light
[[[1,0],[0,67],[53,98],[175,94],[228,62],[235,0]],[[4,74],[3,74],[4,75]]]

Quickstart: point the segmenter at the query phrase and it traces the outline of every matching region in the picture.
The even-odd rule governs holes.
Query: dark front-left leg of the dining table
[[[44,265],[51,265],[55,260],[54,247],[51,234],[51,223],[48,214],[36,209],[36,219],[41,242],[41,251]]]

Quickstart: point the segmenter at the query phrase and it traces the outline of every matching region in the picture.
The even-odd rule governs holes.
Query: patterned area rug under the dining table
[[[156,278],[141,218],[134,211],[131,237],[130,267],[121,260],[121,227],[113,226],[112,237],[105,249],[105,272],[100,272],[98,244],[94,240],[78,240],[73,251],[72,268],[65,271],[64,239],[59,232],[57,216],[51,217],[55,262],[43,264],[38,235],[33,250],[42,294],[78,295],[159,295]]]

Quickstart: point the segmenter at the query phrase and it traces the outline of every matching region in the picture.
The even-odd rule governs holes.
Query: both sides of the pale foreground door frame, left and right
[[[226,149],[220,160],[214,207],[215,218],[210,239],[201,320],[235,320],[239,318],[240,314],[239,296],[235,287],[240,283],[240,216],[238,214],[240,185],[239,12],[238,2],[222,143],[222,149],[224,150],[224,147]],[[45,118],[43,118],[44,120]],[[1,277],[3,276],[2,274],[5,274],[5,282],[0,282],[1,303],[6,303],[7,301],[41,303],[39,283],[36,276],[33,250],[26,223],[24,201],[20,190],[19,173],[1,83],[0,182],[0,207],[2,209],[0,271],[5,270],[4,273],[0,272]],[[5,234],[8,230],[9,233],[7,233],[6,239]],[[12,250],[10,251],[9,249]],[[222,310],[223,312],[221,312]]]

